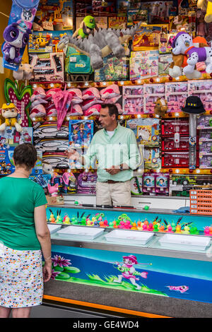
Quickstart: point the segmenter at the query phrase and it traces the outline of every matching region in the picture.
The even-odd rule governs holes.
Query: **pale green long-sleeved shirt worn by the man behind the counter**
[[[101,129],[94,136],[90,147],[84,156],[86,167],[94,167],[98,160],[98,182],[114,180],[125,182],[133,177],[133,170],[139,166],[139,149],[136,136],[131,129],[118,124],[114,134],[110,137],[105,129]],[[129,170],[122,170],[115,175],[106,172],[106,168],[127,164]]]

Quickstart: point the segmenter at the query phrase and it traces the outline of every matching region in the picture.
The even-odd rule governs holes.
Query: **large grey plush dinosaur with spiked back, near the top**
[[[64,49],[68,45],[76,48],[79,52],[90,57],[90,64],[93,69],[102,68],[103,57],[113,53],[115,57],[121,58],[125,55],[125,49],[122,43],[129,41],[137,30],[139,30],[141,23],[134,25],[134,27],[120,30],[120,29],[103,29],[94,30],[87,38],[77,38],[70,35],[61,37],[57,47]]]

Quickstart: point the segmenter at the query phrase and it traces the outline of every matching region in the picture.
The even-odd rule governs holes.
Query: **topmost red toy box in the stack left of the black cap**
[[[161,121],[162,135],[189,135],[189,120],[188,119],[163,119]]]

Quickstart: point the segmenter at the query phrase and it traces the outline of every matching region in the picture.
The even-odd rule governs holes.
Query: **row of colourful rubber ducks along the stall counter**
[[[184,223],[180,224],[180,221],[183,217],[180,217],[177,220],[177,223],[172,221],[172,223],[167,223],[164,219],[158,220],[156,217],[153,221],[148,222],[147,219],[139,220],[137,223],[136,221],[132,222],[131,219],[126,214],[122,214],[117,218],[117,220],[113,220],[108,222],[107,219],[104,218],[104,213],[96,213],[92,217],[90,215],[85,215],[85,212],[79,216],[77,213],[76,216],[69,218],[69,215],[64,215],[64,218],[61,217],[61,211],[57,211],[57,217],[54,217],[54,213],[51,212],[49,218],[47,218],[48,223],[55,223],[55,224],[63,224],[63,225],[84,225],[88,227],[112,227],[112,228],[119,228],[124,230],[144,230],[150,232],[168,232],[168,233],[178,233],[178,234],[185,234],[185,235],[198,235],[199,230],[193,223]],[[212,226],[204,227],[204,234],[205,235],[212,235]]]

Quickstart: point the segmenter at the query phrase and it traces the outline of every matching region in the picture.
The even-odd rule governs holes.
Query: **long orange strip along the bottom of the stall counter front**
[[[117,308],[117,307],[107,307],[107,305],[102,305],[102,304],[64,299],[62,297],[54,297],[54,296],[44,295],[43,298],[46,299],[46,300],[76,304],[76,305],[80,305],[80,306],[83,306],[83,307],[102,309],[102,310],[107,310],[107,311],[110,311],[110,312],[121,312],[122,314],[130,314],[130,315],[141,316],[141,317],[146,317],[146,318],[172,318],[172,317],[169,317],[169,316],[160,316],[160,315],[157,315],[157,314],[148,314],[147,312],[136,312],[134,310],[122,309],[122,308]]]

